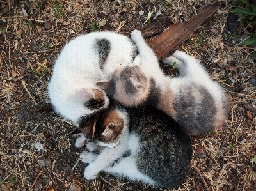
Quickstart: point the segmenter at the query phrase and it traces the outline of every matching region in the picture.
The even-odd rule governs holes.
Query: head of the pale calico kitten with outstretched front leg
[[[150,93],[150,79],[137,65],[116,70],[111,80],[100,81],[96,85],[127,107],[145,102]]]

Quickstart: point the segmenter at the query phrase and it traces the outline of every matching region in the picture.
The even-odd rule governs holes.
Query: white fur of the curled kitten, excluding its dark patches
[[[111,42],[103,72],[99,68],[98,53],[93,49],[97,38]],[[131,63],[132,49],[129,38],[113,32],[90,33],[71,40],[58,56],[48,86],[49,99],[56,111],[79,126],[78,119],[94,111],[84,107],[77,93],[83,88],[97,88],[95,82],[109,79],[116,69]],[[104,107],[108,107],[106,96],[105,100]]]

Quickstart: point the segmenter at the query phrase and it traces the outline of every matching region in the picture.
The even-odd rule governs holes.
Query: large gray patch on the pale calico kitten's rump
[[[198,93],[198,98],[195,97]],[[189,135],[202,135],[214,130],[214,116],[217,109],[211,94],[202,86],[181,89],[181,95],[174,102],[177,122]]]

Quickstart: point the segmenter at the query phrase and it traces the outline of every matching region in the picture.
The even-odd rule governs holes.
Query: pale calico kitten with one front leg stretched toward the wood
[[[176,63],[180,76],[166,77],[140,31],[133,31],[131,39],[138,47],[140,66],[116,70],[111,80],[97,83],[99,88],[127,107],[156,107],[175,119],[189,135],[211,132],[227,119],[229,104],[225,91],[211,80],[198,60],[176,51],[163,62]]]

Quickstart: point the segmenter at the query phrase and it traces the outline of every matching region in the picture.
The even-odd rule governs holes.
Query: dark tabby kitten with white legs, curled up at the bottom
[[[173,119],[154,108],[125,109],[114,103],[97,120],[93,142],[80,158],[89,163],[88,180],[100,171],[157,187],[182,183],[192,157],[189,135]]]

